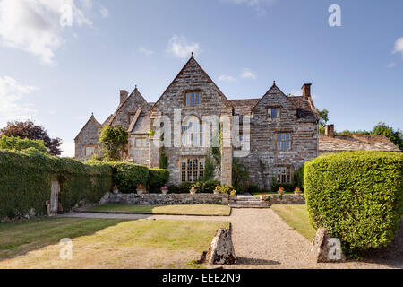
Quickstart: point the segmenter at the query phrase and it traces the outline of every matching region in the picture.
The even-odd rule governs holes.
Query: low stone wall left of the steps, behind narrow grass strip
[[[99,204],[228,204],[225,194],[113,194],[107,193]]]

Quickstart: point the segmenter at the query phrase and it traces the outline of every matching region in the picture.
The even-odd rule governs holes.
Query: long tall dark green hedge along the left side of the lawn
[[[27,152],[0,150],[0,218],[16,213],[46,213],[51,181],[59,179],[59,201],[69,210],[81,200],[90,203],[112,187],[112,169],[107,164],[84,164],[68,158],[51,157],[29,149]]]

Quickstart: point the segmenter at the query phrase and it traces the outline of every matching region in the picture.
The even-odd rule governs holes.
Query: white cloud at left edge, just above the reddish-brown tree
[[[37,114],[24,95],[38,88],[18,83],[12,77],[0,77],[0,126],[7,121],[25,120]]]

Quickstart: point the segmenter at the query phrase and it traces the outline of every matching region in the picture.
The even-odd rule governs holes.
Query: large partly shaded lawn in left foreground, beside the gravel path
[[[0,223],[3,268],[199,268],[222,221],[45,218]],[[59,240],[73,240],[61,259]]]

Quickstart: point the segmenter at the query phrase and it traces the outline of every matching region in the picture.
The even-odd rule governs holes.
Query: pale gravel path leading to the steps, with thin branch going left
[[[231,216],[68,213],[64,216],[122,219],[181,219],[229,221],[233,228],[236,265],[224,268],[403,268],[401,247],[381,256],[356,262],[318,264],[311,243],[271,209],[232,209]],[[400,232],[401,234],[401,232]],[[398,236],[399,238],[399,236]],[[400,252],[400,253],[399,253]],[[396,257],[398,255],[398,257]],[[208,267],[217,267],[208,266]]]

